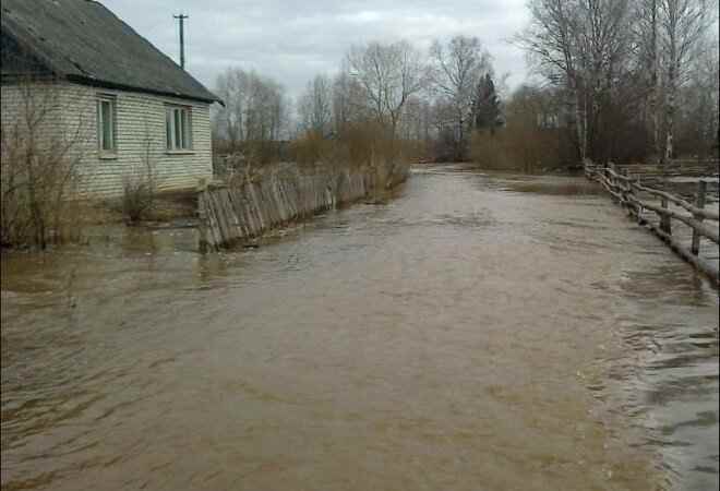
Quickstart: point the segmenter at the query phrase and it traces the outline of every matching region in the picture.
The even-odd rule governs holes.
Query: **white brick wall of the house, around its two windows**
[[[112,91],[76,84],[38,86],[41,104],[52,100],[52,112],[47,118],[43,139],[63,139],[75,142],[72,146],[81,165],[82,188],[104,197],[122,194],[127,177],[143,171],[149,159],[161,190],[193,188],[199,179],[213,173],[209,105],[173,97]],[[23,111],[22,91],[16,86],[2,87],[3,128]],[[117,154],[104,158],[98,149],[96,101],[100,94],[116,97]],[[191,107],[192,151],[183,154],[166,149],[166,105]]]

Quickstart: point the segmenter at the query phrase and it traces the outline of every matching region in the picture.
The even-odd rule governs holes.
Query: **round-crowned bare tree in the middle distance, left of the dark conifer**
[[[359,82],[373,117],[396,136],[403,107],[427,84],[420,53],[407,41],[355,46],[348,57],[350,74]]]

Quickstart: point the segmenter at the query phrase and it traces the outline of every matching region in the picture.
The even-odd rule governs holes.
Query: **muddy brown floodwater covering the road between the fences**
[[[2,262],[2,489],[718,487],[718,291],[581,178],[416,169]]]

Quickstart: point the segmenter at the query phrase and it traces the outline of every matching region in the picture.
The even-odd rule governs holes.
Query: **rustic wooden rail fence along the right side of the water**
[[[631,175],[627,166],[621,168],[612,163],[596,165],[588,160],[585,163],[585,175],[598,181],[639,225],[647,227],[681,258],[710,277],[716,286],[720,285],[720,214],[717,202],[706,207],[707,179],[697,180],[693,203],[667,190],[644,184],[641,176],[637,172]],[[658,201],[651,202],[653,199]],[[703,238],[709,243],[703,243]]]

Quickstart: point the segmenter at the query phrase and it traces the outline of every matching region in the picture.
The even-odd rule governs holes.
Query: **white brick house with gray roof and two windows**
[[[86,193],[120,195],[151,167],[158,189],[212,177],[220,100],[101,3],[2,0],[1,34],[3,130],[27,94],[51,104],[38,140],[73,140]]]

